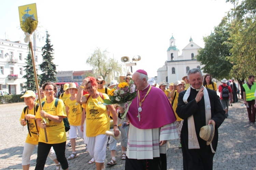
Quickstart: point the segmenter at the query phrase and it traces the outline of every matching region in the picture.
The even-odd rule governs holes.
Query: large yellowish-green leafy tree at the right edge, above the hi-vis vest
[[[242,1],[235,9],[230,41],[229,61],[233,63],[230,75],[242,86],[248,75],[256,75],[256,1]]]

